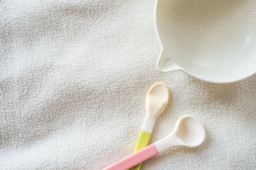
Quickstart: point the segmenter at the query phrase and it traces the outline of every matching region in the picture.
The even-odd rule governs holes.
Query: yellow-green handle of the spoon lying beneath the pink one
[[[137,143],[136,143],[136,146],[134,148],[134,152],[137,152],[138,150],[141,150],[142,148],[145,148],[146,146],[148,146],[150,136],[151,136],[151,133],[148,133],[146,131],[141,130],[139,138],[138,138]],[[141,166],[141,164],[138,164],[138,165],[132,167],[131,169],[132,170],[139,170],[140,166]]]

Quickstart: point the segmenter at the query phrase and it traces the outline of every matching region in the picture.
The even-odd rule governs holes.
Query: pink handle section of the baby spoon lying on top
[[[154,143],[152,145],[147,146],[139,150],[138,152],[133,153],[132,155],[115,162],[111,166],[105,168],[105,170],[122,170],[122,169],[129,169],[131,167],[144,162],[145,160],[154,157],[157,155],[158,151]]]

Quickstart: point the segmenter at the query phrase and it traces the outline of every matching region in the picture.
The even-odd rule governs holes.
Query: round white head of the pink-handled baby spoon
[[[205,130],[196,117],[186,115],[177,121],[174,131],[176,136],[182,141],[180,145],[190,148],[201,145],[205,139]]]

